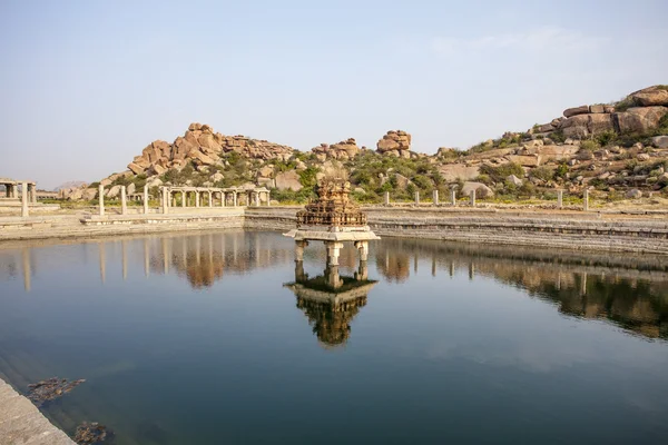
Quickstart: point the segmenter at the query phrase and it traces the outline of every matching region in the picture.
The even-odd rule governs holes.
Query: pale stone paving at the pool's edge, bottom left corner
[[[0,445],[75,445],[30,402],[0,379]]]

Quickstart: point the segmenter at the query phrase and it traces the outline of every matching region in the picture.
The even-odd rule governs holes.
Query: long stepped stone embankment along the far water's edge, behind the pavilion
[[[220,208],[207,212],[58,220],[1,218],[0,240],[228,228],[287,230],[295,227],[299,208]],[[381,206],[363,211],[369,215],[372,229],[385,237],[668,255],[665,215]]]

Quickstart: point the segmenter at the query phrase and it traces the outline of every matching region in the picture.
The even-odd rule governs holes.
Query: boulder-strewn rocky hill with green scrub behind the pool
[[[468,150],[440,148],[435,155],[411,150],[411,135],[391,130],[376,149],[354,138],[321,144],[310,151],[253,139],[224,136],[208,125],[191,123],[171,144],[156,140],[128,165],[105,178],[108,196],[127,185],[229,187],[258,184],[279,200],[305,201],[317,178],[345,169],[361,201],[410,199],[413,191],[458,185],[460,192],[482,197],[544,197],[553,190],[596,190],[608,199],[668,195],[668,87],[654,86],[611,103],[568,108],[563,116],[527,131],[507,132]],[[95,188],[97,184],[92,184]],[[78,191],[77,191],[78,190]],[[90,199],[90,189],[70,190]]]

